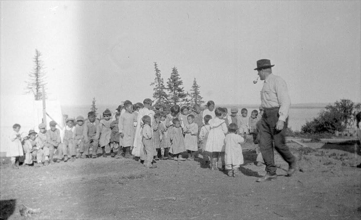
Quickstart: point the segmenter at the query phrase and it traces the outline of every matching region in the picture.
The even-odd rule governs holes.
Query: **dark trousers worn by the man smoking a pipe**
[[[288,118],[284,122],[282,131],[276,131],[275,129],[279,117],[278,110],[279,108],[264,109],[260,124],[258,125],[259,146],[266,165],[265,170],[269,175],[275,175],[277,169],[274,164],[273,146],[288,164],[295,161],[295,157],[287,147],[285,140]]]

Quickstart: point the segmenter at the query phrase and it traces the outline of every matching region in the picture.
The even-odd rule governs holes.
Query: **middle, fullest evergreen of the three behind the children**
[[[167,81],[167,90],[169,92],[169,104],[181,104],[179,102],[184,102],[187,98],[187,94],[184,93],[183,81],[179,76],[177,67],[172,68],[172,72],[170,73],[170,77]]]

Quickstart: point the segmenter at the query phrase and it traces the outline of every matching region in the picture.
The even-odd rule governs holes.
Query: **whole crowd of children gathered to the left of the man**
[[[30,130],[26,137],[19,134],[20,125],[15,124],[10,136],[13,167],[18,169],[16,157],[23,154],[26,165],[36,161],[37,166],[44,166],[51,161],[97,158],[99,147],[102,156],[107,157],[105,147],[109,146],[111,157],[134,158],[148,168],[156,168],[158,160],[193,160],[201,155],[210,169],[217,169],[221,160],[221,169],[228,170],[229,176],[236,176],[243,163],[240,144],[247,134],[252,134],[257,143],[257,121],[262,114],[257,110],[248,118],[245,108],[238,115],[238,108],[232,107],[229,114],[227,108],[214,109],[213,101],[203,111],[199,104],[192,109],[173,105],[168,114],[163,108],[156,104],[153,111],[151,99],[134,105],[126,100],[116,109],[115,120],[111,120],[109,109],[100,120],[94,112],[89,112],[86,120],[82,116],[76,120],[66,118],[62,132],[51,121],[49,130],[42,123],[39,134]],[[260,154],[259,150],[257,153]]]

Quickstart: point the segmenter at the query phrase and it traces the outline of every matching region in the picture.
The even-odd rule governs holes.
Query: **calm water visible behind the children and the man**
[[[110,111],[114,112],[114,110],[118,107],[118,105],[99,105],[97,106],[98,113],[103,112],[106,108],[109,108]],[[257,109],[258,106],[237,106],[239,107],[239,112],[242,108],[247,108],[248,116],[251,115],[251,111],[253,109]],[[90,105],[79,105],[79,106],[62,106],[61,107],[63,114],[68,115],[69,117],[77,117],[79,115],[83,117],[87,117],[88,112],[90,111]],[[288,127],[291,127],[292,130],[297,131],[301,130],[301,126],[306,123],[306,121],[312,121],[314,117],[317,117],[318,113],[323,110],[323,107],[291,107],[290,108],[290,116],[288,119]],[[230,108],[229,108],[230,112]]]

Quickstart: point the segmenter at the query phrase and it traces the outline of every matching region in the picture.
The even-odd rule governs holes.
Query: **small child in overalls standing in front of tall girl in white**
[[[142,143],[143,143],[143,154],[140,157],[140,160],[145,162],[145,167],[147,168],[156,168],[157,166],[153,164],[153,156],[155,154],[155,149],[152,143],[153,131],[151,128],[151,117],[145,115],[142,117]]]

